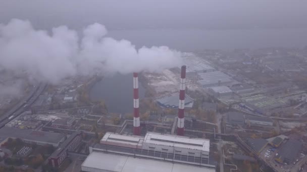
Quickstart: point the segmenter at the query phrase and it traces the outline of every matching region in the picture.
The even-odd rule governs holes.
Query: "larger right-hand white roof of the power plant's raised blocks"
[[[151,132],[148,132],[145,135],[143,143],[166,145],[166,146],[201,150],[207,152],[209,152],[209,147],[210,147],[210,140],[208,139],[192,139],[188,137],[163,135]]]

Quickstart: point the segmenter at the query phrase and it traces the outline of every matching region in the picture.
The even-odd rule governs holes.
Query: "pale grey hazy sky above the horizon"
[[[0,0],[0,22],[29,19],[35,27],[93,22],[108,29],[301,28],[304,0]]]

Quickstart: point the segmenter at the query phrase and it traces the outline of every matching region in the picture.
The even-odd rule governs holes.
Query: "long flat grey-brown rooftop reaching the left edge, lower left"
[[[22,140],[45,142],[46,144],[59,144],[65,135],[45,131],[19,129],[15,127],[3,127],[0,129],[0,137],[20,138]]]

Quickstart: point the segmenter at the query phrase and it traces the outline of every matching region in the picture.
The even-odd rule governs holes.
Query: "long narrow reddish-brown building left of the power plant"
[[[48,163],[53,167],[59,167],[67,157],[68,151],[73,151],[81,142],[81,132],[77,131],[70,135],[60,147],[49,156]]]

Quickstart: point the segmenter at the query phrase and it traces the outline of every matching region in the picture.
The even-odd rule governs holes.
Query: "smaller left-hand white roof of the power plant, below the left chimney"
[[[124,143],[130,145],[141,145],[143,137],[135,135],[121,135],[107,132],[100,141],[104,142],[114,142],[114,143]]]

